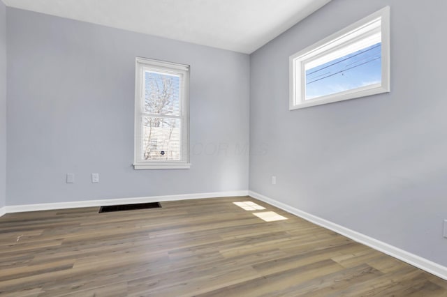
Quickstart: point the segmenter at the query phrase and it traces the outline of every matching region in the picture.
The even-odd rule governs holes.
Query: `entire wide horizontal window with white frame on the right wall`
[[[289,58],[289,109],[390,91],[390,7]]]

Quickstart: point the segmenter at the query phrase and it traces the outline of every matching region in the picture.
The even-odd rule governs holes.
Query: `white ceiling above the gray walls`
[[[6,6],[251,54],[330,0],[3,0]]]

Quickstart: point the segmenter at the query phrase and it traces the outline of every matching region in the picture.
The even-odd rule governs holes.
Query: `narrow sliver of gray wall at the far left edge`
[[[6,205],[6,7],[0,1],[0,208]]]

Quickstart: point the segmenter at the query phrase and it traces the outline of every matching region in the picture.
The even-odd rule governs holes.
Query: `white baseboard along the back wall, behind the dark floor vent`
[[[52,209],[64,209],[64,208],[80,208],[80,207],[95,207],[95,206],[107,206],[116,204],[136,204],[147,202],[160,202],[160,201],[177,201],[187,199],[205,199],[216,197],[237,197],[247,196],[248,190],[240,191],[227,191],[227,192],[209,192],[209,193],[197,193],[197,194],[182,194],[182,195],[167,195],[167,196],[150,196],[150,197],[133,197],[133,198],[119,198],[119,199],[100,199],[100,200],[85,200],[85,201],[71,201],[71,202],[56,202],[56,203],[43,203],[43,204],[26,204],[26,205],[11,205],[0,208],[0,216],[4,213],[21,213],[24,211],[49,211]],[[1,211],[3,210],[3,214]]]

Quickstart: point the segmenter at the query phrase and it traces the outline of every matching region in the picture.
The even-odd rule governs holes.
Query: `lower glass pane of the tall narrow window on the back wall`
[[[142,117],[142,160],[180,160],[180,119]]]

